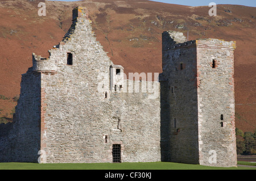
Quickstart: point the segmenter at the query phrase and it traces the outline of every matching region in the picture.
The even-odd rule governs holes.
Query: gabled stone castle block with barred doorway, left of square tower
[[[122,78],[90,23],[86,9],[76,7],[49,57],[32,54],[14,123],[0,134],[0,162],[160,161],[160,96],[131,90],[135,81]],[[159,94],[159,82],[148,83]]]

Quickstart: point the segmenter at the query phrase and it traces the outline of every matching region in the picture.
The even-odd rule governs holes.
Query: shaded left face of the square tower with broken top
[[[161,95],[168,98],[167,104],[170,105],[167,110],[162,110],[168,112],[168,119],[161,120],[169,129],[165,140],[170,145],[166,159],[172,162],[199,164],[196,45],[195,41],[189,41],[187,45],[179,46],[177,41],[181,43],[185,37],[180,36],[180,33],[177,35],[176,32],[163,33],[165,82],[161,83],[165,84],[165,90],[161,90]],[[173,38],[176,39],[174,43]],[[164,47],[166,45],[168,46]]]

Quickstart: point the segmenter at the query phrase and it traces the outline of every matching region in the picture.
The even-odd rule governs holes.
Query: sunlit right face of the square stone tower
[[[201,39],[196,44],[200,164],[236,166],[233,78],[236,43]],[[209,155],[213,153],[216,160],[210,162],[216,163],[211,164]]]

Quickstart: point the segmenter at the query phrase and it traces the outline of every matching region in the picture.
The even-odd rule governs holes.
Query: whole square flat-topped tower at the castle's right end
[[[236,43],[186,41],[163,32],[161,77],[162,159],[236,166],[234,56]]]

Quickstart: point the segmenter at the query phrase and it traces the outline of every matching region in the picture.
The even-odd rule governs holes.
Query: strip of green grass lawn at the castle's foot
[[[238,162],[238,164],[244,165],[245,163]],[[171,162],[47,164],[0,163],[0,170],[256,170],[256,167],[208,167]]]

